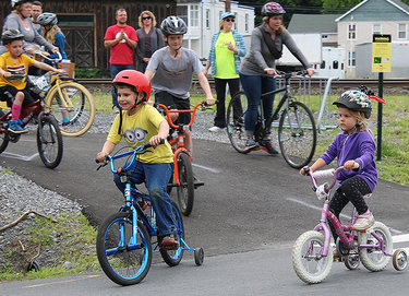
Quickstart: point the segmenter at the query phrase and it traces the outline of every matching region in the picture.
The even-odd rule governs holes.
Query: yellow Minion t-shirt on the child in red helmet
[[[118,144],[124,138],[130,147],[140,146],[148,143],[149,139],[158,133],[159,125],[164,120],[166,119],[154,107],[143,104],[134,115],[130,116],[128,111],[122,111],[120,134],[118,134],[120,116],[117,115],[107,140]],[[173,153],[168,141],[165,141],[165,144],[153,149],[153,153],[140,155],[139,161],[145,164],[172,163]]]

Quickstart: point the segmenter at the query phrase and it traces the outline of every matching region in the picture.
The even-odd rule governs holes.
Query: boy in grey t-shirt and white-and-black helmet
[[[214,105],[215,99],[201,61],[193,50],[182,47],[183,35],[188,32],[184,21],[178,16],[168,16],[160,26],[168,46],[154,52],[145,72],[155,90],[156,103],[164,104],[170,109],[190,109],[189,91],[193,75],[196,74],[206,94],[207,105]],[[172,120],[177,118],[176,116]],[[189,113],[180,114],[178,122],[189,123],[190,118]],[[185,147],[192,152],[191,132],[185,131],[184,135]]]

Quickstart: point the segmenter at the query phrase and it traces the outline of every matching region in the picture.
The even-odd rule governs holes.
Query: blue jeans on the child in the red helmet
[[[173,163],[144,164],[136,162],[131,175],[132,183],[146,183],[151,196],[151,203],[156,213],[158,236],[166,236],[176,230],[170,198],[166,192],[166,187],[172,171]],[[118,174],[113,175],[113,181],[123,193],[125,185],[121,182]]]

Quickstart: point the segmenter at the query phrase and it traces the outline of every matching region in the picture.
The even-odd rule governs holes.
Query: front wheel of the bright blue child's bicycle
[[[119,285],[134,285],[147,274],[152,263],[152,245],[145,226],[137,221],[136,241],[132,239],[132,214],[109,216],[98,228],[96,249],[105,274]]]

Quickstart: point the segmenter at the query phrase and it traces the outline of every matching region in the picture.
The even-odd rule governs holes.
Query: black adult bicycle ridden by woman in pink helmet
[[[316,145],[316,127],[311,110],[301,102],[291,96],[290,80],[296,75],[305,75],[305,71],[282,72],[277,71],[278,76],[285,81],[284,87],[264,93],[263,96],[284,93],[273,116],[265,120],[263,104],[260,104],[254,138],[261,142],[275,128],[278,122],[278,142],[286,162],[294,168],[308,165],[314,156]],[[248,98],[244,92],[237,93],[227,108],[226,122],[227,134],[231,145],[240,153],[249,153],[245,147],[248,139],[244,130],[244,117],[248,109]]]

